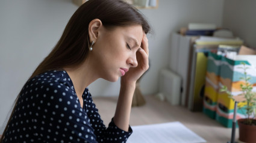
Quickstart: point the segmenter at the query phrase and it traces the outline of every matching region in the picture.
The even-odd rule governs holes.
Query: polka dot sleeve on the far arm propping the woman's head
[[[126,142],[133,130],[129,126],[128,132],[119,129],[119,127],[114,124],[113,118],[108,124],[108,128],[105,127],[101,117],[98,113],[98,109],[93,103],[92,96],[88,89],[85,91],[87,96],[84,100],[86,103],[86,111],[90,118],[90,125],[94,129],[96,139],[98,142]]]

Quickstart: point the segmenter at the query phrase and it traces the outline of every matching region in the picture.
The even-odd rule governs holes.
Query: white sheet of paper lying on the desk
[[[127,143],[200,143],[205,139],[180,122],[133,126]]]

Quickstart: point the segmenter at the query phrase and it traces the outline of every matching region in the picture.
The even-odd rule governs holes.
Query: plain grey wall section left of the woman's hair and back
[[[69,0],[0,1],[0,126],[76,8]]]

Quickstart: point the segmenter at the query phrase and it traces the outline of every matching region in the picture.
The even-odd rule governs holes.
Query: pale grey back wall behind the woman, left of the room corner
[[[76,5],[71,0],[0,1],[0,126],[11,104],[40,61],[51,51]],[[158,92],[158,72],[168,67],[170,35],[189,22],[222,25],[223,0],[160,0],[141,10],[154,28],[149,35],[150,68],[141,81],[145,95]],[[119,82],[98,80],[93,96],[117,96]]]

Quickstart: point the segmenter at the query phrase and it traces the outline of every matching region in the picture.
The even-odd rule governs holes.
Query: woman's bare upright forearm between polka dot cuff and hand
[[[131,103],[133,101],[133,94],[136,87],[136,82],[130,84],[122,83],[119,98],[117,101],[116,112],[114,114],[114,124],[126,132],[129,129]]]

